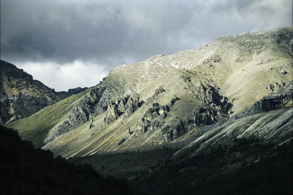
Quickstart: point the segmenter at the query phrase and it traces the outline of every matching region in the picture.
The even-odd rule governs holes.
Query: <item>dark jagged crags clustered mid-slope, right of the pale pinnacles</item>
[[[176,117],[166,122],[170,109],[179,100],[176,95],[165,106],[153,103],[153,106],[145,112],[141,121],[137,122],[136,131],[145,133],[161,129],[162,140],[169,142],[187,133],[191,126],[222,123],[229,118],[228,111],[232,104],[228,103],[228,98],[220,95],[218,90],[217,87],[205,86],[200,83],[198,89],[195,89],[191,95],[201,100],[202,104],[194,108],[192,118]],[[156,100],[156,97],[163,91],[165,90],[161,87],[157,89],[155,94],[148,98],[147,103]]]

